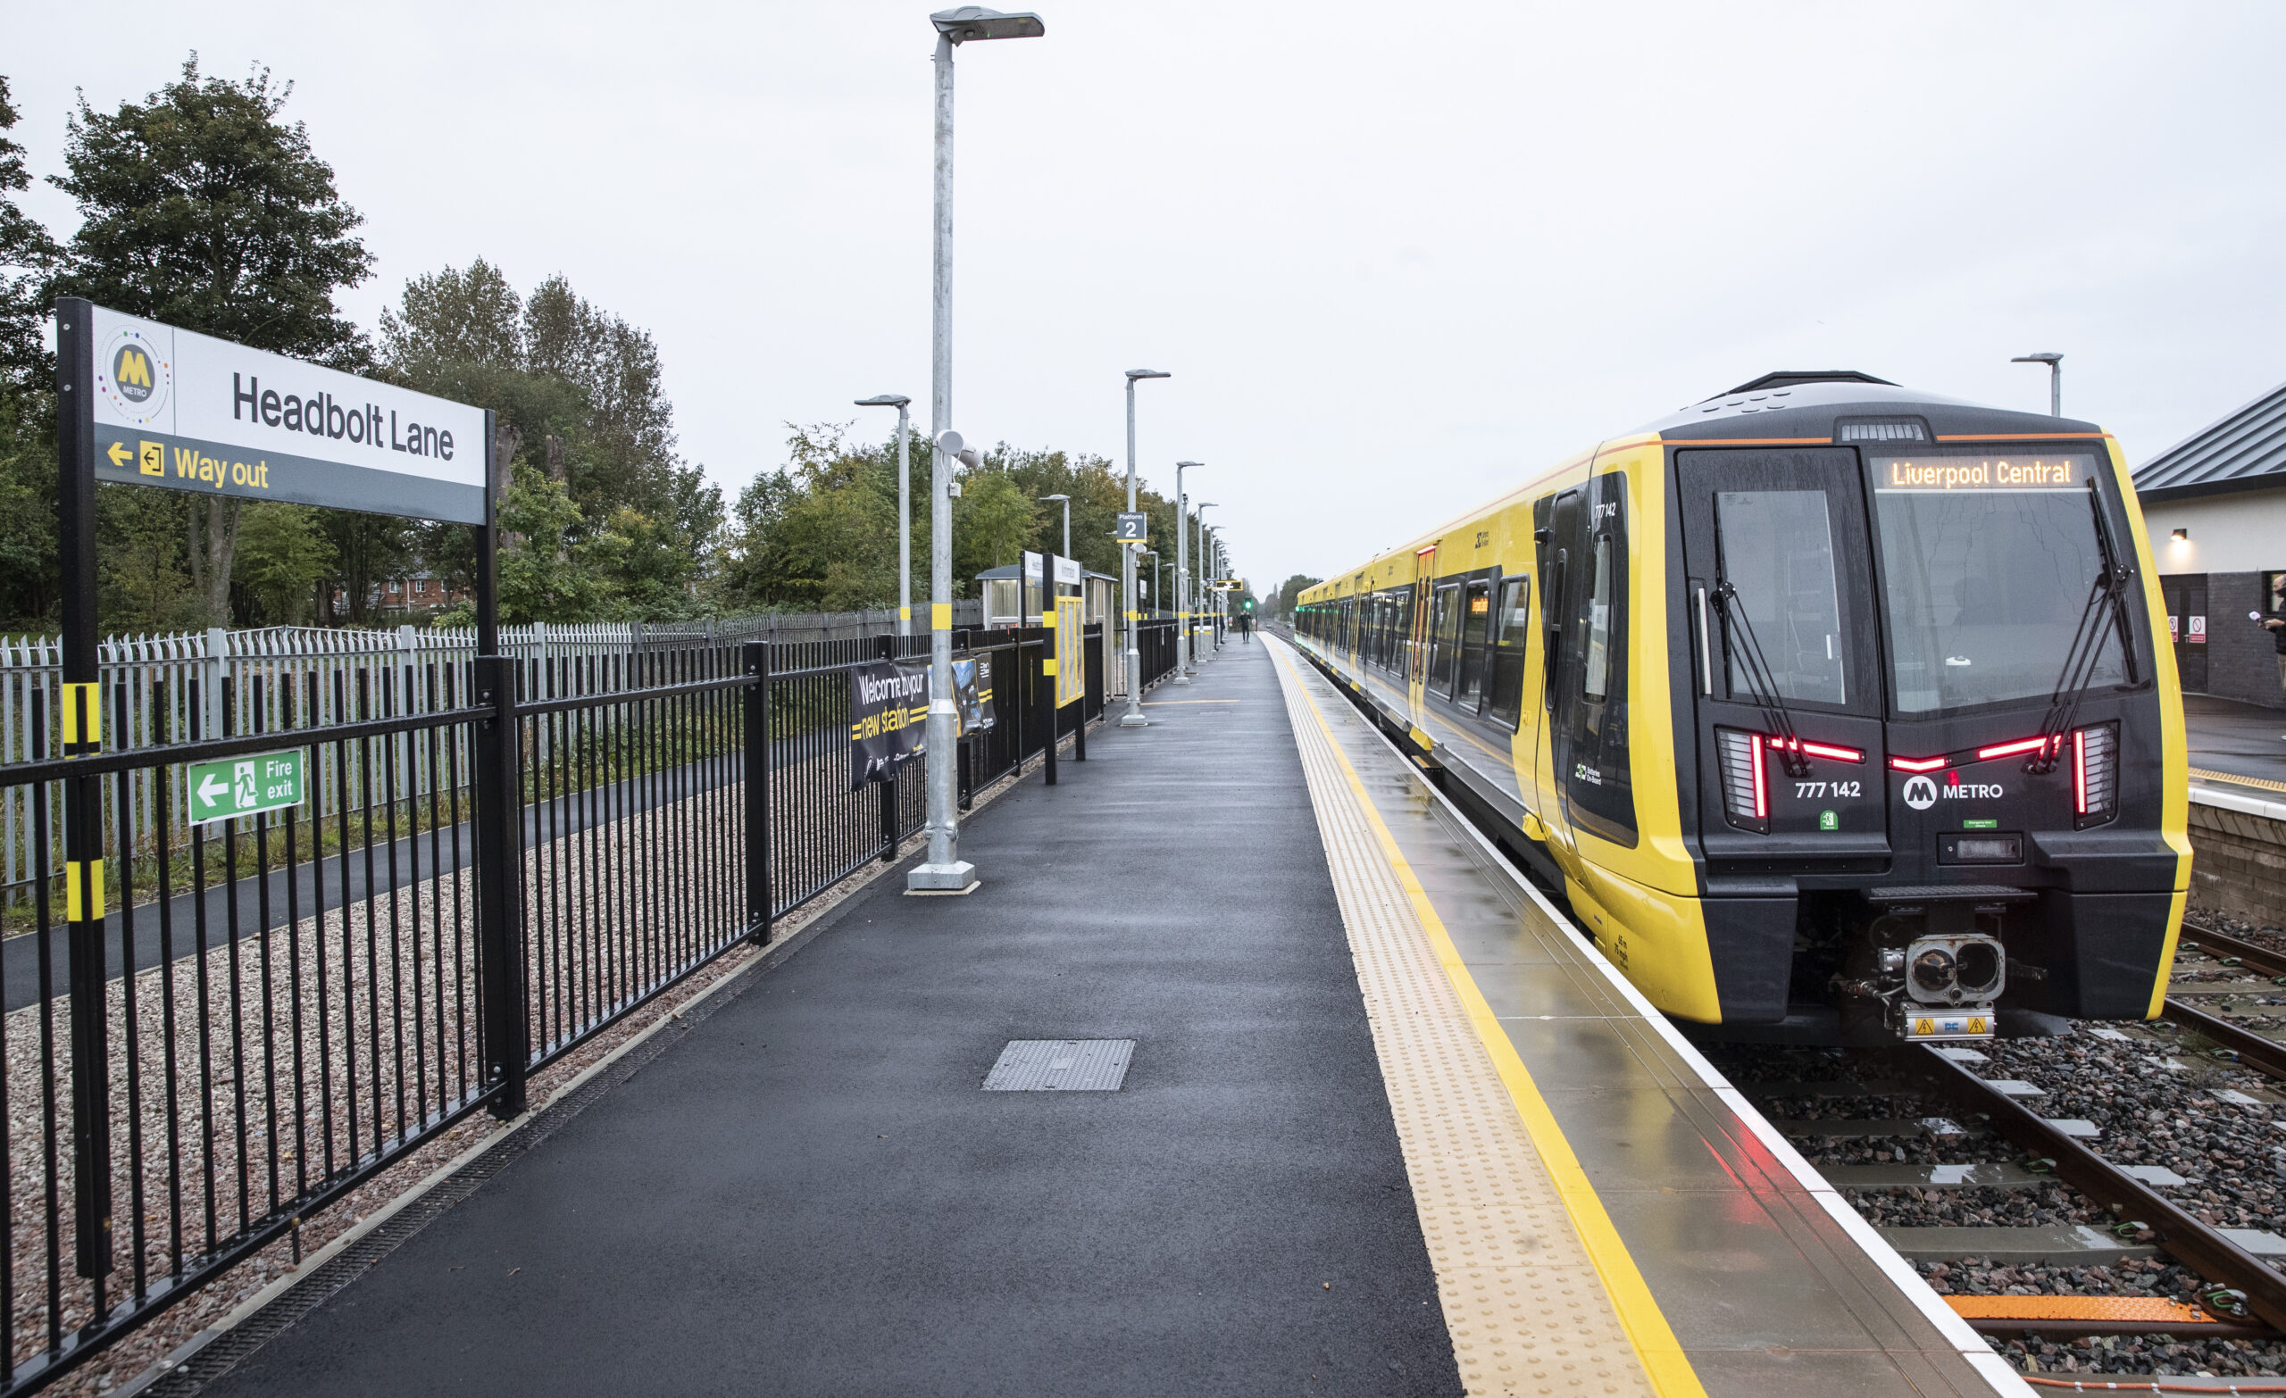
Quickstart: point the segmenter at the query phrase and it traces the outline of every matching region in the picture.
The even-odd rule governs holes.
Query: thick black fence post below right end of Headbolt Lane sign
[[[475,658],[475,955],[485,987],[485,1083],[491,1115],[523,1110],[530,1023],[523,1007],[523,774],[517,761],[517,672]]]

